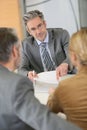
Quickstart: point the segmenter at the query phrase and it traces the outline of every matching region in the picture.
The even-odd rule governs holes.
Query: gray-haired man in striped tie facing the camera
[[[33,70],[37,73],[56,70],[57,78],[72,73],[68,32],[62,28],[46,29],[44,15],[39,10],[26,13],[24,22],[29,35],[23,40],[19,73],[32,81],[36,76]]]

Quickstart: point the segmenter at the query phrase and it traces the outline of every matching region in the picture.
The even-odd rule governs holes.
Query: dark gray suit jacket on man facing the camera
[[[59,66],[62,62],[70,64],[68,58],[68,32],[61,28],[57,28],[48,29],[48,33],[48,47],[56,66]],[[32,36],[28,36],[23,40],[22,62],[19,68],[19,73],[27,75],[30,70],[35,70],[37,73],[44,71],[39,46]]]

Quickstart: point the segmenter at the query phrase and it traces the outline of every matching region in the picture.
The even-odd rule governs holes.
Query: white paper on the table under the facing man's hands
[[[36,92],[48,92],[50,87],[57,87],[61,80],[69,78],[73,75],[66,75],[56,78],[56,71],[47,71],[38,74],[38,78],[34,79],[34,88]]]

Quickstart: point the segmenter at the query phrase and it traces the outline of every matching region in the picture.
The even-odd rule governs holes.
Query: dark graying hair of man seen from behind
[[[13,28],[0,28],[0,62],[6,63],[9,61],[12,46],[17,42],[18,37]]]

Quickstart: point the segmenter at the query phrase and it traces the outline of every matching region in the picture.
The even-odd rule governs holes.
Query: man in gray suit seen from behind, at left
[[[0,28],[0,130],[80,130],[40,104],[32,82],[12,72],[19,62],[18,37]]]

